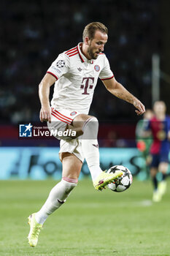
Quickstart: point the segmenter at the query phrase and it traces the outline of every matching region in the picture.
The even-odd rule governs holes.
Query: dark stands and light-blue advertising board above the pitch
[[[24,173],[20,177],[26,177],[26,173],[29,176],[33,172],[32,168],[37,178],[61,171],[58,141],[20,140],[18,124],[39,124],[40,80],[58,53],[82,41],[84,26],[93,20],[101,21],[109,29],[105,53],[115,78],[139,97],[146,108],[152,108],[153,99],[160,98],[170,113],[169,7],[166,0],[1,1],[0,178],[18,176],[19,170]],[[153,56],[158,56],[160,63],[155,73]],[[154,76],[158,89],[152,85]],[[133,159],[138,152],[134,151],[134,156],[129,153],[128,157],[129,151],[123,151],[136,147],[135,127],[139,117],[134,107],[112,97],[98,80],[90,113],[101,123],[101,150],[106,147],[112,152],[108,157],[104,151],[107,156],[104,159],[110,165],[133,162],[132,172],[139,173],[140,161],[136,164]],[[52,155],[50,151],[53,157],[42,162],[44,154]],[[115,152],[120,152],[118,158]],[[101,164],[107,167],[105,162]]]

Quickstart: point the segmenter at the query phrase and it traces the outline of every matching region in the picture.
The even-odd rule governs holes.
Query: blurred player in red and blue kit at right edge
[[[152,145],[150,154],[152,162],[150,164],[150,176],[154,187],[152,200],[159,202],[166,192],[166,173],[169,167],[169,138],[170,138],[170,118],[166,116],[166,104],[157,101],[153,105],[153,116],[147,127],[148,135],[152,135]],[[162,179],[158,182],[157,173],[162,173]]]

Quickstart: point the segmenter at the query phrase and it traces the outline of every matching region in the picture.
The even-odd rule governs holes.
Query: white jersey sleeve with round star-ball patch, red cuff
[[[69,57],[66,54],[61,53],[58,55],[57,59],[53,61],[47,73],[53,75],[57,80],[61,78],[62,75],[69,71]]]

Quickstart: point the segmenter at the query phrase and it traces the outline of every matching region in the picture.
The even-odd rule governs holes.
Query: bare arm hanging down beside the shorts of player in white
[[[53,75],[47,73],[39,83],[39,99],[42,105],[42,108],[39,113],[40,121],[49,121],[51,122],[51,108],[50,108],[50,86],[55,83],[56,78]]]

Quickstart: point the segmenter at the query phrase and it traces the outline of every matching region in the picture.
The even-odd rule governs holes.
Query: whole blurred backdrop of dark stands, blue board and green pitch
[[[47,220],[34,250],[26,244],[26,218],[61,178],[59,143],[19,138],[19,124],[40,125],[38,85],[47,68],[82,41],[82,30],[94,20],[109,29],[105,53],[115,78],[146,108],[155,99],[165,101],[169,114],[169,10],[168,0],[1,0],[0,255],[169,255],[169,189],[161,203],[152,203],[149,174],[136,148],[140,118],[100,80],[90,113],[100,121],[101,167],[122,164],[138,179],[127,192],[107,189],[101,195],[85,178],[84,164],[80,184]]]

